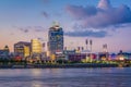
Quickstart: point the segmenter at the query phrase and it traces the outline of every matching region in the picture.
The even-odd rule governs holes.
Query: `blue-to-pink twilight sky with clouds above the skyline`
[[[0,0],[0,49],[13,51],[17,41],[48,41],[48,29],[58,22],[64,47],[85,47],[93,52],[131,52],[131,0]]]

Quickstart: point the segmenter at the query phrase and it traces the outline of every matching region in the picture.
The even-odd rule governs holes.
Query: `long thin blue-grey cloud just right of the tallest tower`
[[[103,38],[107,36],[107,32],[99,30],[99,32],[93,32],[93,30],[84,30],[84,32],[68,32],[64,33],[67,36],[71,37],[97,37]]]

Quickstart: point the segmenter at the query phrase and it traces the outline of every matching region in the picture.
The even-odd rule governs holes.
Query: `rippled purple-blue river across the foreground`
[[[2,69],[0,87],[131,87],[131,69]]]

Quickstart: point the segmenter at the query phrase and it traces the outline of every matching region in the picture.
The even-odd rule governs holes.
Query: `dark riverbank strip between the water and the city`
[[[25,65],[0,65],[0,69],[82,69],[82,67],[118,67],[118,64],[25,64]]]

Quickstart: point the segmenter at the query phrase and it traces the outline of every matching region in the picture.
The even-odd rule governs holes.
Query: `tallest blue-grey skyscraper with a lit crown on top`
[[[48,49],[50,54],[63,51],[63,30],[57,23],[49,28]]]

